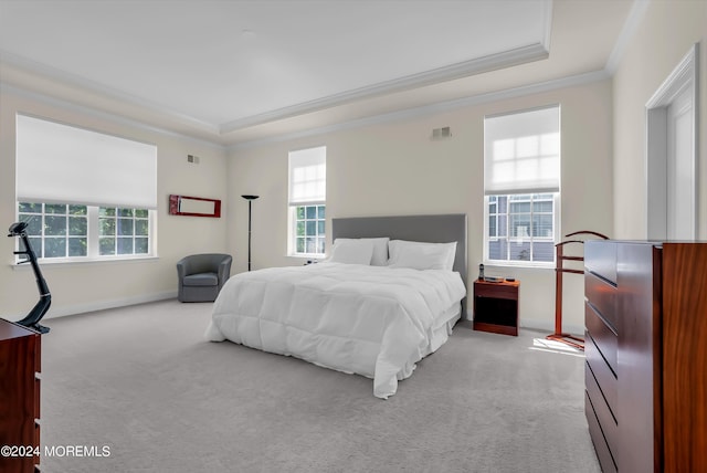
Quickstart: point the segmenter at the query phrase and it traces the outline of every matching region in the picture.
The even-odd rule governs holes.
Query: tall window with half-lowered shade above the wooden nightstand
[[[485,118],[485,261],[555,263],[559,123],[557,106]]]

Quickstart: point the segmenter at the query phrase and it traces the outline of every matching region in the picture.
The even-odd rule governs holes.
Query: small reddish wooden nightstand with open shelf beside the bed
[[[474,329],[518,336],[520,283],[474,281]]]

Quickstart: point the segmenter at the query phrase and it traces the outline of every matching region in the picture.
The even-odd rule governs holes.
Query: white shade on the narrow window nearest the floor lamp
[[[327,148],[289,153],[289,204],[324,203],[327,195]]]

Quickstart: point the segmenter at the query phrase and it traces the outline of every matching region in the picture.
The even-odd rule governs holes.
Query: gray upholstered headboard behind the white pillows
[[[331,219],[331,241],[337,238],[377,238],[423,241],[431,243],[456,242],[454,271],[466,284],[466,214],[354,217]]]

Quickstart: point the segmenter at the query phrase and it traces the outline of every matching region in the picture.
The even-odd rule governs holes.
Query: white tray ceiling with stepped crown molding
[[[632,0],[0,0],[0,82],[219,144],[601,71]]]

